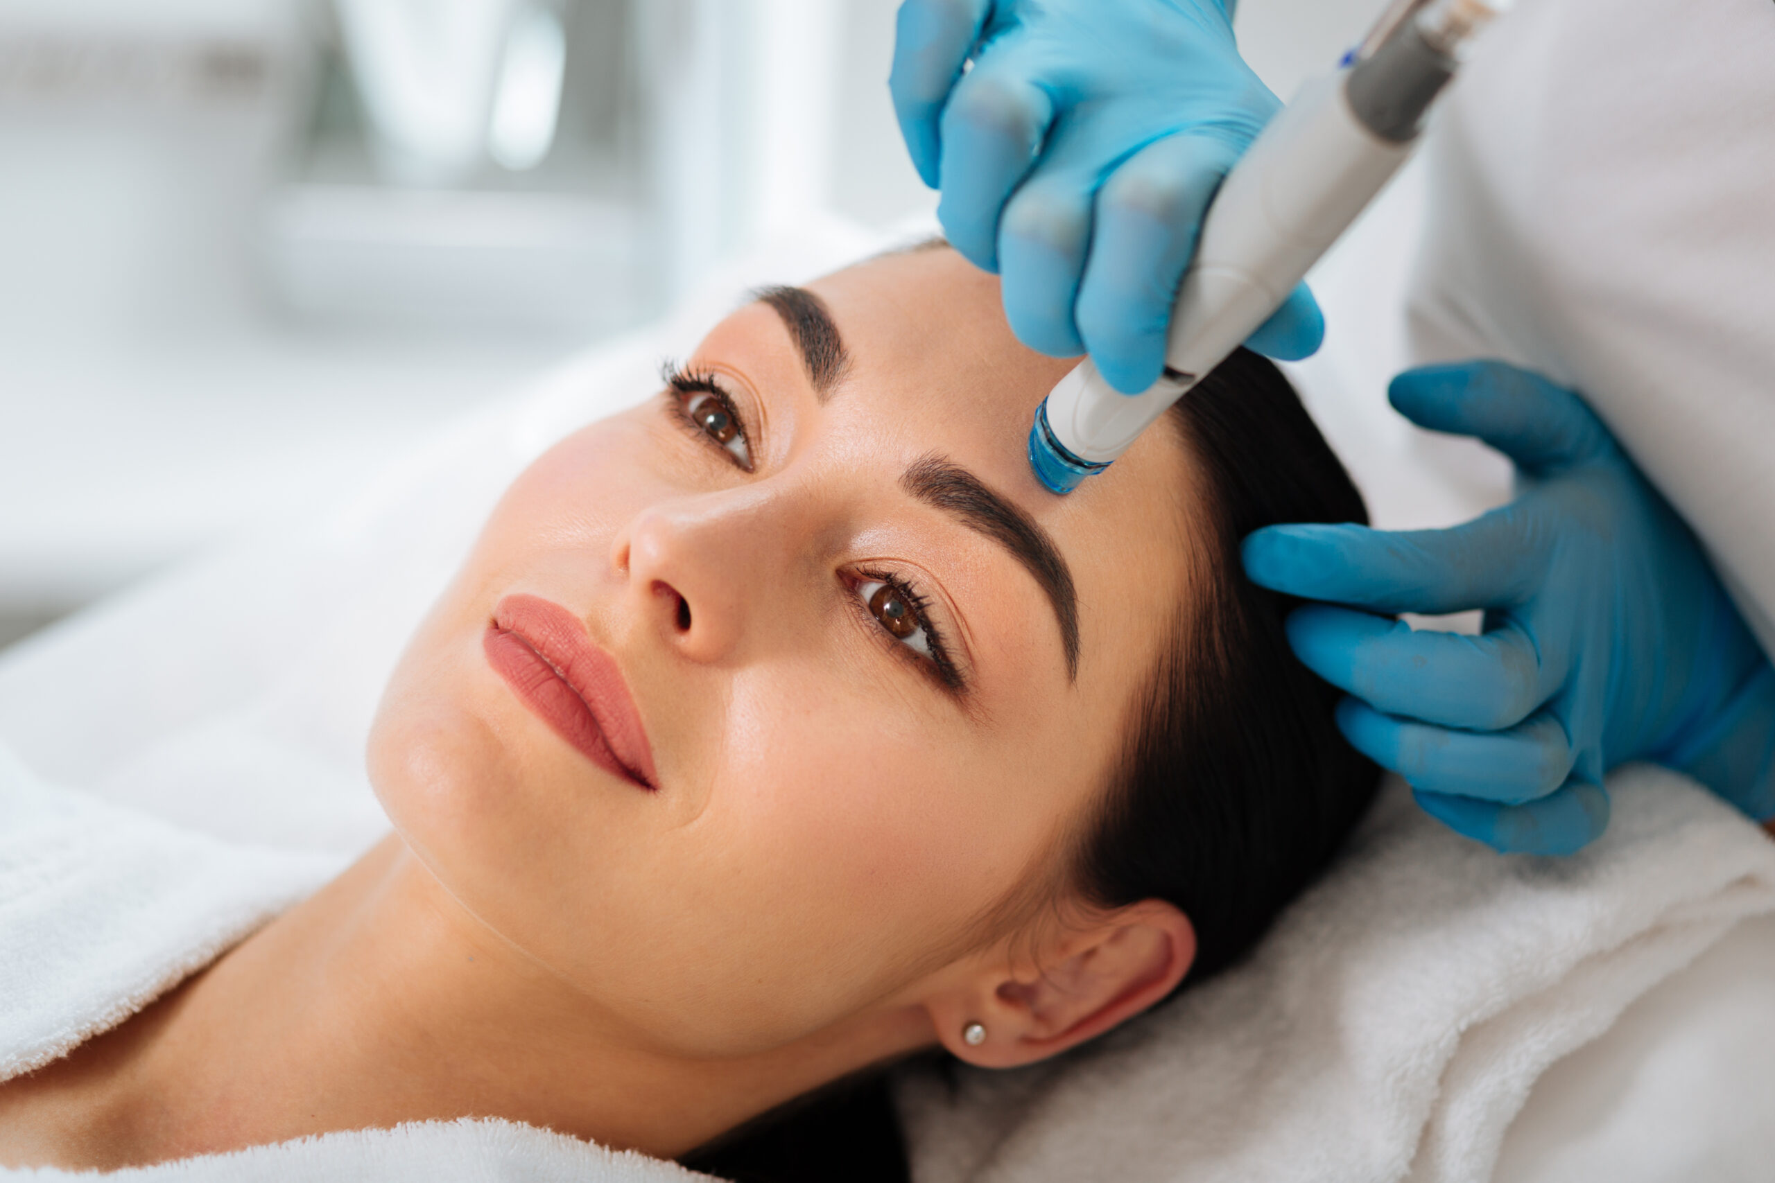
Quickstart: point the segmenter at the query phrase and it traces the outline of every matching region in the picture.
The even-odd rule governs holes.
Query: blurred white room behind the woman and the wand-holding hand
[[[896,0],[0,0],[0,647],[811,216],[935,208]],[[1287,98],[1379,0],[1241,0]]]

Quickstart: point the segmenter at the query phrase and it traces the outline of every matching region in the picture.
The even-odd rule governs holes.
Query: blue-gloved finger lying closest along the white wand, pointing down
[[[1140,394],[1164,369],[1164,335],[1202,215],[1239,149],[1221,133],[1179,133],[1122,161],[1097,192],[1077,326],[1097,371]]]

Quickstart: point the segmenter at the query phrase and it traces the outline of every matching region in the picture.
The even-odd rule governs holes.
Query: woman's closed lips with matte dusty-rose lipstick
[[[488,663],[518,699],[588,759],[644,789],[659,786],[653,747],[616,658],[577,615],[541,596],[493,607],[481,639]]]

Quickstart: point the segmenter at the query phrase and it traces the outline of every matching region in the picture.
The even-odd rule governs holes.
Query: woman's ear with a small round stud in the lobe
[[[1189,917],[1163,899],[1067,924],[1022,965],[982,968],[927,1002],[944,1048],[982,1068],[1047,1059],[1164,999],[1196,958]]]

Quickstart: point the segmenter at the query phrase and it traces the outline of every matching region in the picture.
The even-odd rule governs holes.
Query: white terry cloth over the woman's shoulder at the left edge
[[[46,784],[0,747],[0,1080],[117,1025],[339,866]]]

